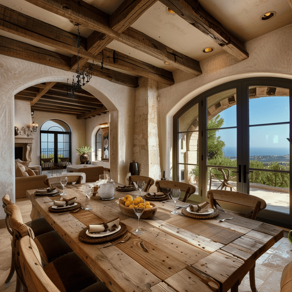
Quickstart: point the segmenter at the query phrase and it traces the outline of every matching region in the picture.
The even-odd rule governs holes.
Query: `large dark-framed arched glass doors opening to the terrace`
[[[181,180],[183,161],[194,166],[188,171],[187,182],[197,185],[203,200],[207,190],[213,188],[253,194],[267,202],[260,217],[288,223],[292,200],[290,145],[286,138],[292,133],[291,89],[291,82],[285,79],[244,79],[194,98],[174,117],[174,131],[179,130],[181,135],[181,126],[190,129],[195,119],[199,155],[196,160],[187,153],[184,160],[174,157],[174,180]],[[194,114],[196,106],[198,112]],[[193,140],[185,139],[185,149],[191,149],[194,137],[192,134]],[[179,153],[181,139],[174,142]]]

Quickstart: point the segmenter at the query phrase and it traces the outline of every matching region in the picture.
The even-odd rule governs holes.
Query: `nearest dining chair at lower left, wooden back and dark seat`
[[[74,252],[43,267],[38,247],[29,236],[20,239],[15,262],[24,291],[110,292]]]

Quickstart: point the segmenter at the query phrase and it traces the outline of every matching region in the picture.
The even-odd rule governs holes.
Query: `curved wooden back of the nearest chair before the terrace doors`
[[[265,209],[267,206],[265,200],[263,200],[262,198],[240,192],[232,192],[226,190],[209,190],[207,192],[207,197],[210,199],[210,208],[214,208],[214,205],[216,206],[216,204],[218,204],[217,201],[251,207],[253,208],[253,211],[251,213],[248,213],[244,217],[250,217],[250,215],[252,214],[251,219],[253,220],[256,220],[258,212]]]

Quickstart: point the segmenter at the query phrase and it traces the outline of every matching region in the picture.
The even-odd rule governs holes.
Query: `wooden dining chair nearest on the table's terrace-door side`
[[[267,206],[267,203],[262,198],[241,192],[233,192],[226,190],[209,190],[207,192],[207,197],[210,199],[210,208],[212,209],[216,208],[219,211],[239,215],[245,218],[250,218],[252,220],[256,220],[256,216],[258,215],[260,210],[265,209]],[[241,206],[246,206],[253,208],[253,210],[248,214],[236,213],[222,209],[217,201],[223,201]],[[254,265],[249,271],[249,283],[252,292],[257,292],[255,281],[255,266],[256,265]]]

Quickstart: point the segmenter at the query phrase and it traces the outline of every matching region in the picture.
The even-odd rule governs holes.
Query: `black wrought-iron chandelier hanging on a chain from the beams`
[[[94,65],[94,63],[92,61],[92,65],[89,66],[86,70],[79,71],[79,48],[80,48],[79,23],[75,22],[74,26],[75,25],[78,25],[78,28],[77,28],[77,33],[78,33],[77,48],[78,48],[78,51],[77,51],[77,69],[75,71],[75,73],[77,74],[76,75],[77,81],[74,81],[74,75],[73,75],[72,88],[71,88],[73,98],[74,98],[74,91],[77,89],[81,89],[82,86],[84,86],[85,84],[87,84],[90,81],[90,79],[92,77],[92,70],[93,70],[93,65]],[[67,89],[68,89],[68,80],[69,80],[69,78],[67,79]],[[67,94],[68,94],[68,90],[67,90]]]

